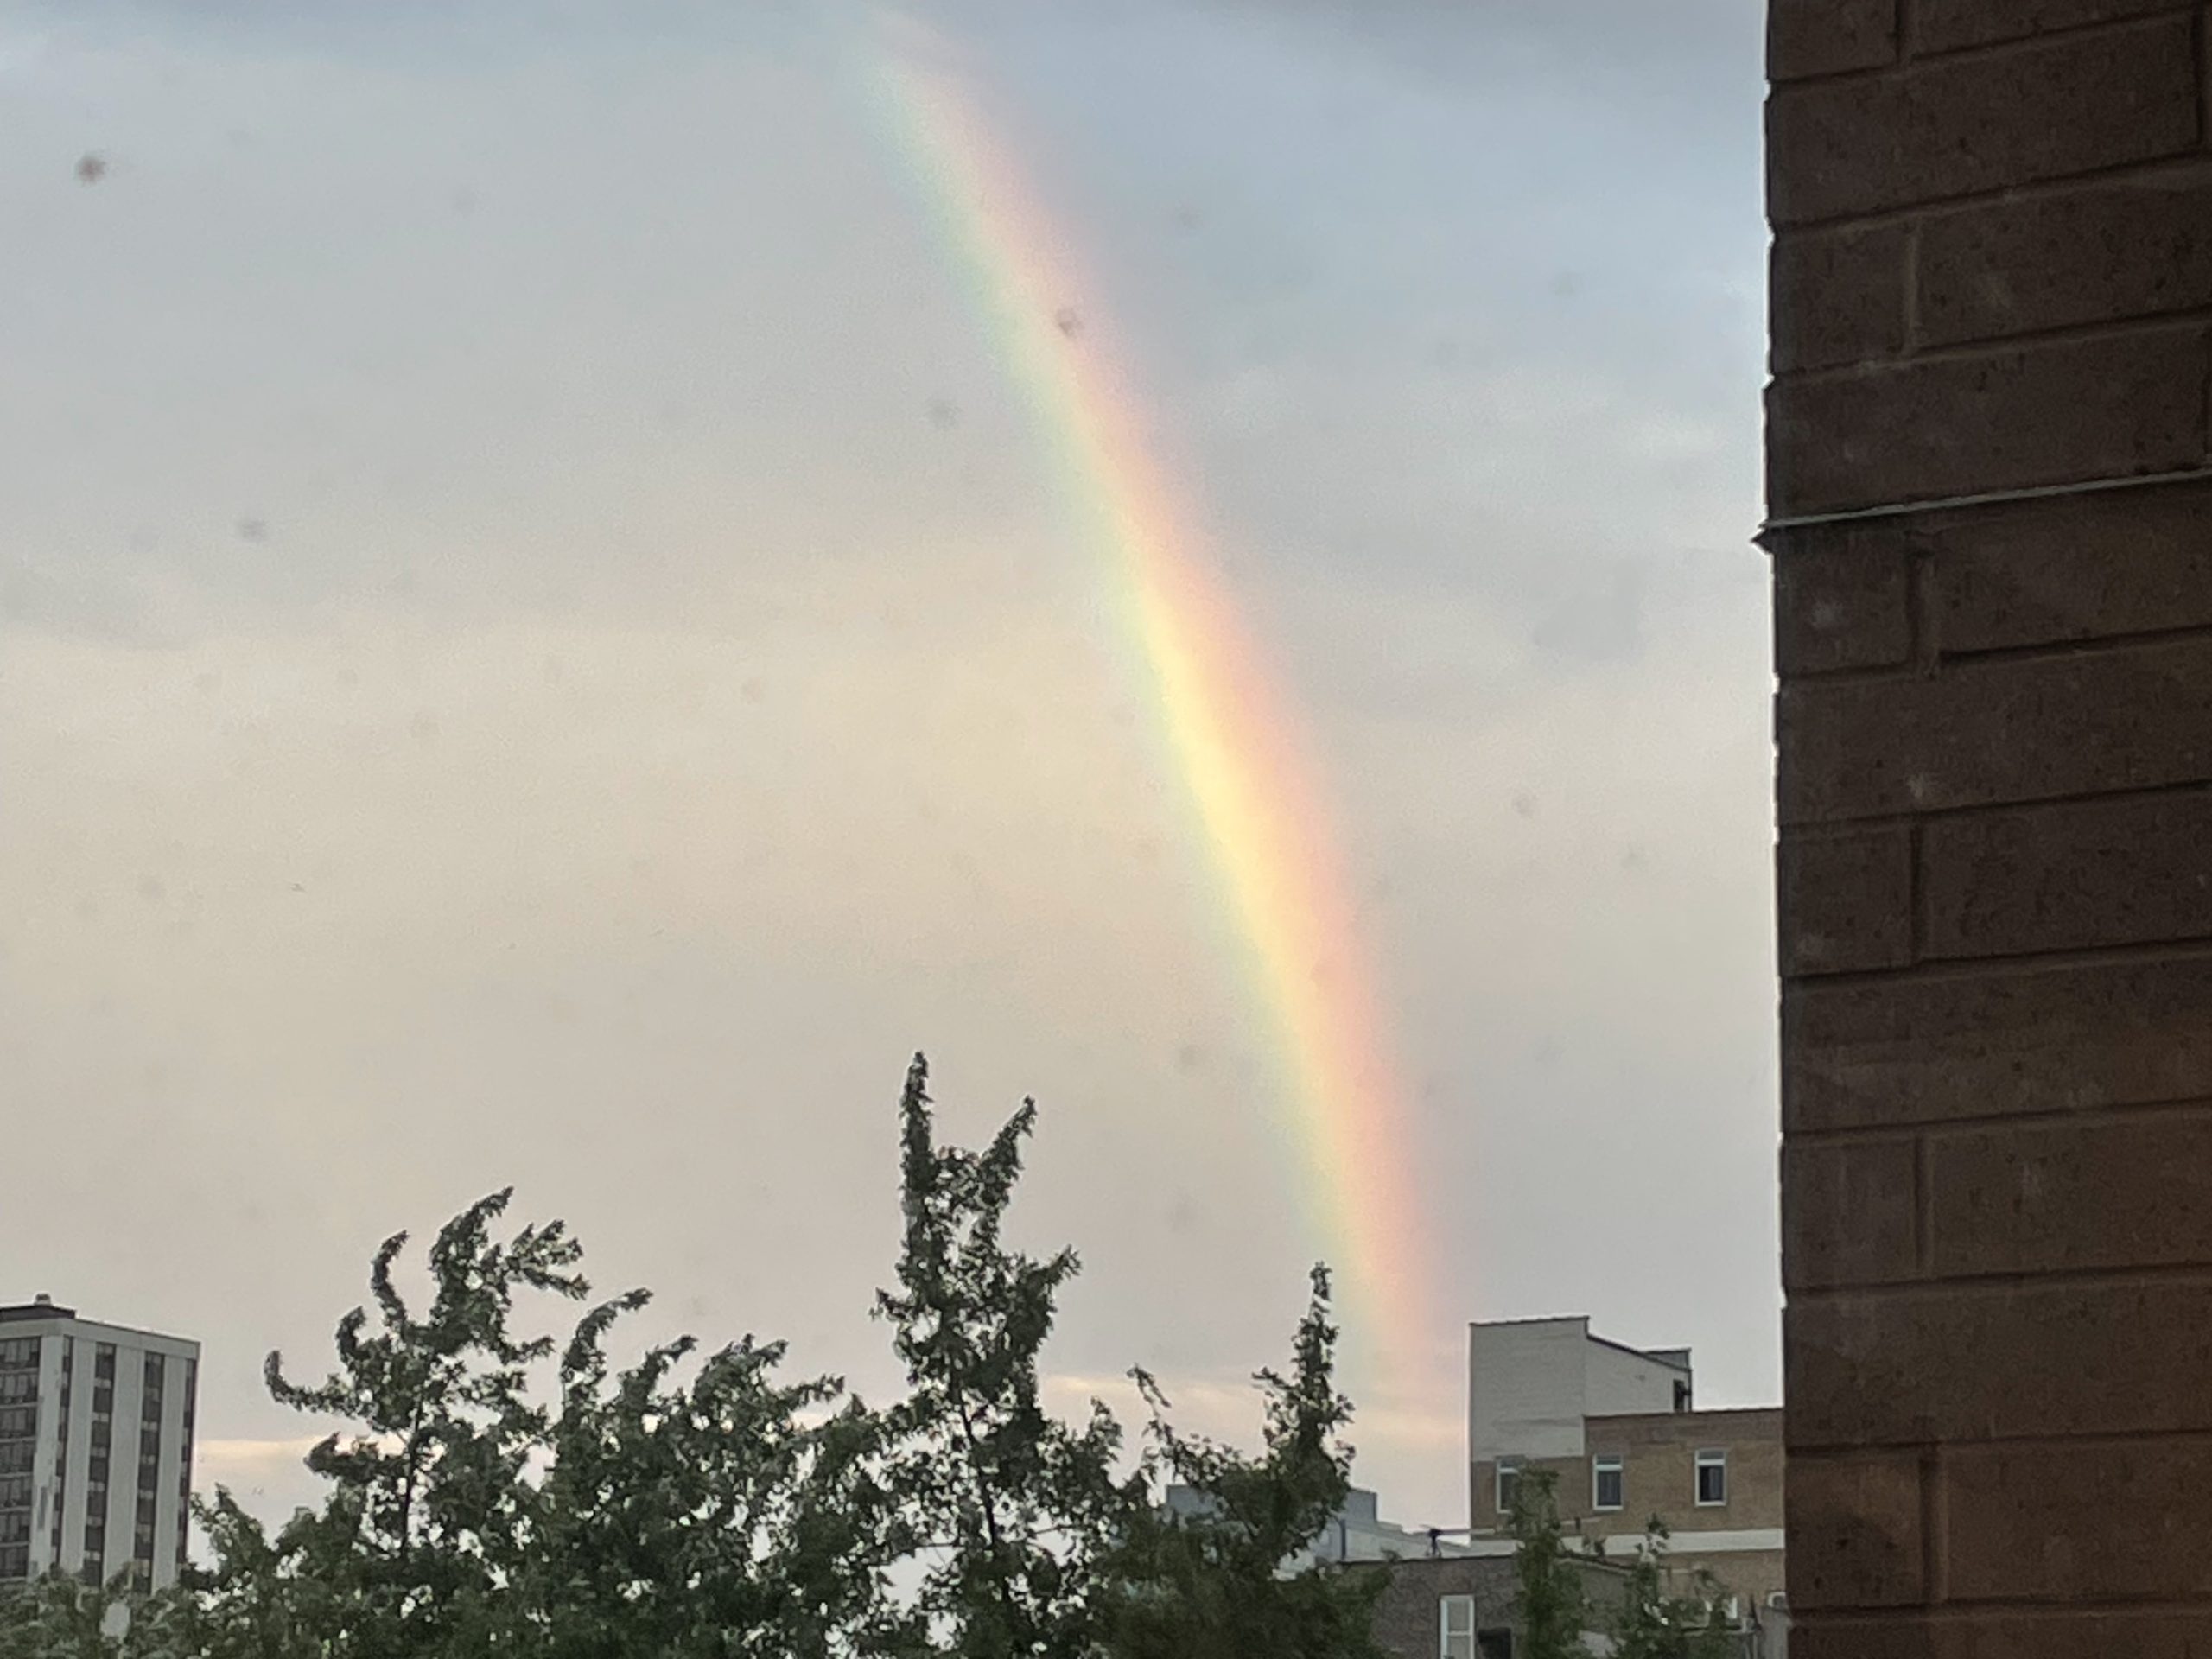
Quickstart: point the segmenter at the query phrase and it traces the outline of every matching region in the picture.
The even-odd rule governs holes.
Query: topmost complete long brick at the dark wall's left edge
[[[2064,179],[2194,148],[2188,18],[1767,100],[1776,226]]]

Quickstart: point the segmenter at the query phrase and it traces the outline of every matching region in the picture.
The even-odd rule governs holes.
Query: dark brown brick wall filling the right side
[[[1772,0],[1796,1659],[2212,1652],[2208,11]]]

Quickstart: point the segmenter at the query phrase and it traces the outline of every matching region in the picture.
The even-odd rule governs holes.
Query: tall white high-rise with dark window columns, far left
[[[175,1584],[192,1500],[199,1343],[0,1305],[0,1584],[60,1566]]]

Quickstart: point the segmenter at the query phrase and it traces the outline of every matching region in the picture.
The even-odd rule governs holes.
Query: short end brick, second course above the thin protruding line
[[[1905,226],[1785,230],[1767,263],[1776,374],[1898,356],[1905,349]]]

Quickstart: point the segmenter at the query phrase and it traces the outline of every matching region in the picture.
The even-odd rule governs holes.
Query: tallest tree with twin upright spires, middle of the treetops
[[[1024,1099],[982,1152],[938,1146],[916,1055],[898,1113],[907,1228],[898,1290],[876,1312],[907,1365],[889,1480],[922,1564],[927,1639],[962,1659],[1088,1659],[1102,1564],[1141,1482],[1115,1473],[1121,1429],[1104,1405],[1073,1429],[1040,1400],[1037,1356],[1077,1256],[1040,1261],[1004,1241],[1037,1104]]]

